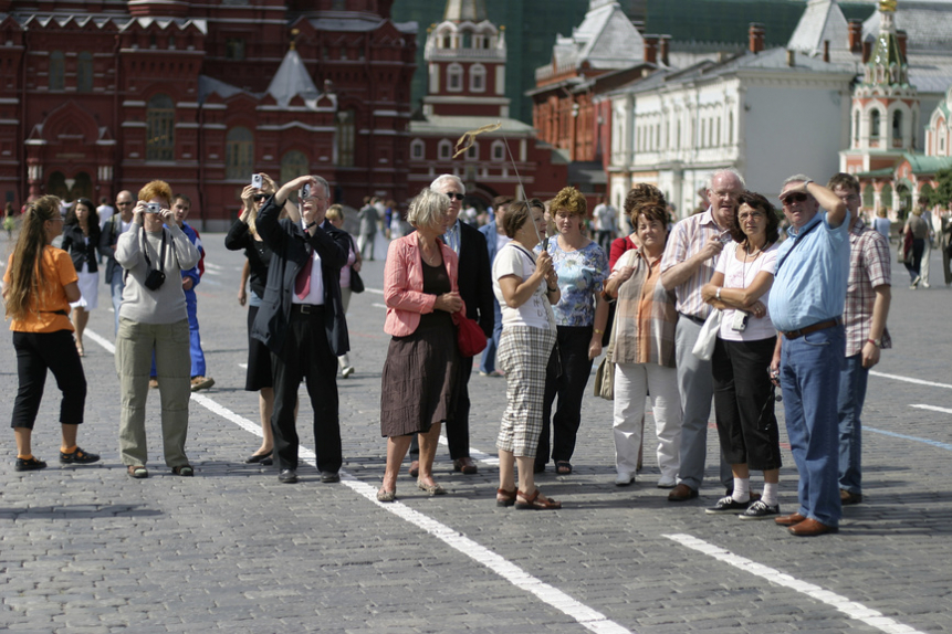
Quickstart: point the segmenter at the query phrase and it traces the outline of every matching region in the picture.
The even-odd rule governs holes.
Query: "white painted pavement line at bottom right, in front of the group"
[[[857,621],[861,621],[867,625],[876,627],[880,632],[885,632],[886,634],[923,634],[918,630],[910,627],[909,625],[903,625],[898,621],[893,621],[888,616],[883,615],[881,612],[867,607],[862,603],[858,603],[856,601],[850,601],[846,596],[840,594],[836,594],[835,592],[830,592],[828,590],[824,590],[819,585],[815,585],[813,583],[808,583],[806,581],[801,581],[789,574],[781,572],[774,568],[770,568],[767,566],[763,566],[755,561],[752,561],[745,557],[741,557],[739,554],[734,554],[729,550],[724,550],[713,543],[708,543],[702,539],[698,539],[691,535],[684,533],[674,533],[674,535],[666,535],[668,539],[680,543],[691,550],[697,550],[698,552],[702,552],[719,561],[723,561],[737,568],[739,570],[743,570],[744,572],[750,572],[751,574],[755,574],[762,579],[770,581],[771,583],[775,583],[777,585],[783,585],[784,588],[789,588],[791,590],[795,590],[803,594],[806,594],[810,599],[815,599],[827,605],[835,607],[849,616],[850,619],[856,619]]]

